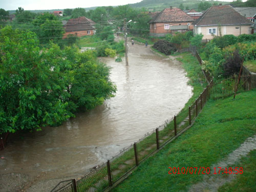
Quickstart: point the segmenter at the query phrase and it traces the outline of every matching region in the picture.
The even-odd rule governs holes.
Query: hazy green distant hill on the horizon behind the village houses
[[[201,3],[201,0],[143,0],[139,3],[129,4],[133,8],[146,8],[150,11],[161,11],[164,8],[169,6],[179,7],[182,3],[184,8],[188,7],[189,9],[197,9],[198,5]],[[230,4],[230,2],[221,2],[221,1],[208,1],[210,4],[218,3],[218,4]],[[115,7],[115,6],[113,6]],[[88,7],[84,8],[86,11],[94,10],[97,7]],[[63,9],[51,9],[51,10],[28,10],[34,13],[44,13],[44,12],[53,12],[53,11],[62,11]],[[14,14],[15,10],[9,10],[10,14]]]

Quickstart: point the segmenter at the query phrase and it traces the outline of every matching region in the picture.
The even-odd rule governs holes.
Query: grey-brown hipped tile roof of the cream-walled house
[[[212,25],[252,25],[253,23],[242,16],[230,5],[212,6],[199,17],[193,25],[212,26]]]

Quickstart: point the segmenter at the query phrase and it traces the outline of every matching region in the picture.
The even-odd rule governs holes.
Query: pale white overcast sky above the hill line
[[[101,7],[118,6],[141,2],[142,0],[0,0],[0,8],[5,10],[16,10],[18,7],[24,10],[47,10],[47,9],[74,9],[77,7]],[[156,0],[157,1],[157,0]],[[231,2],[232,0],[222,0]]]

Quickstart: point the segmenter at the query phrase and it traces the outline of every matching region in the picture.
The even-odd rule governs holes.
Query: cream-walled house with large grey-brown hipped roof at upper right
[[[251,34],[253,23],[230,5],[212,6],[194,23],[194,34],[202,33],[203,39],[221,35]]]

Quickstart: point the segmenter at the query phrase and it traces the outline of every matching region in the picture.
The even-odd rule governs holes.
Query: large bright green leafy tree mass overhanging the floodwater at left
[[[109,68],[90,51],[40,49],[33,32],[0,30],[0,134],[58,125],[113,96]]]

